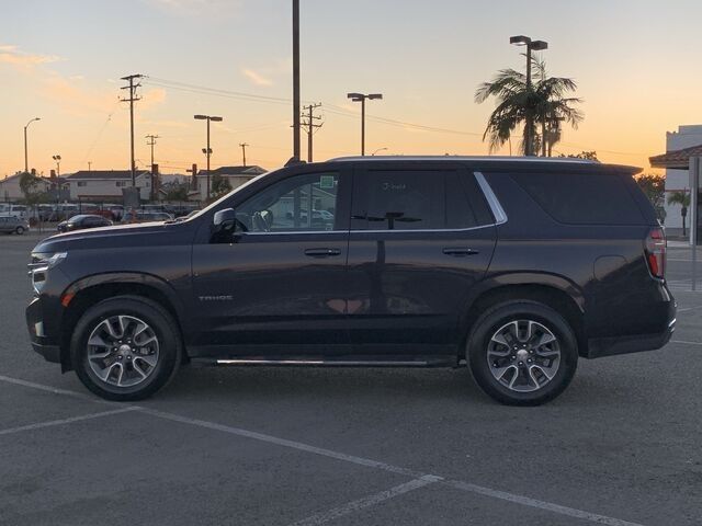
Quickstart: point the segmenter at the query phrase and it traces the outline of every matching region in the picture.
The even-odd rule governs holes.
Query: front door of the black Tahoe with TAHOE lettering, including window
[[[191,354],[348,351],[349,183],[341,170],[274,181],[235,204],[239,227],[230,239],[193,247]]]

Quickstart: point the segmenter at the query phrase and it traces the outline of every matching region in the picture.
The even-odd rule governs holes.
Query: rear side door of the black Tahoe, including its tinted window
[[[451,162],[359,163],[349,241],[349,334],[359,354],[455,355],[458,319],[485,275],[495,219]]]

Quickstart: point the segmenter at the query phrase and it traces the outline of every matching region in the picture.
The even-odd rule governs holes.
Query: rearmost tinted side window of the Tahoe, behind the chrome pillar
[[[512,179],[555,220],[569,225],[642,225],[622,175],[516,173]]]

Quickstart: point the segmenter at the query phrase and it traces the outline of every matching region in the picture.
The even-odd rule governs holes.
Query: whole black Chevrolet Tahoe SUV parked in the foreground
[[[666,238],[636,172],[541,158],[292,164],[186,221],[42,241],[32,344],[110,400],[207,364],[467,366],[499,402],[544,403],[579,358],[659,348],[675,329]],[[335,210],[329,230],[299,220],[318,203]]]

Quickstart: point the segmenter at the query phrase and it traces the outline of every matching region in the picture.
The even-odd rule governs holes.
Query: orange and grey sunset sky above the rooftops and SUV
[[[316,160],[359,152],[350,91],[385,98],[367,105],[367,152],[487,153],[482,134],[494,104],[473,96],[498,69],[523,67],[521,49],[509,45],[516,34],[547,41],[550,73],[574,78],[585,100],[585,121],[565,132],[558,152],[597,150],[601,160],[648,169],[667,130],[702,123],[699,0],[301,3],[302,96],[324,104]],[[89,161],[127,169],[128,107],[118,98],[129,73],[148,76],[136,104],[138,165],[149,162],[147,134],[160,136],[162,172],[204,165],[196,113],[225,119],[212,128],[214,167],[240,164],[239,142],[250,145],[250,164],[272,169],[290,158],[290,0],[0,5],[0,178],[23,169],[22,128],[34,116],[42,121],[30,127],[30,168],[48,174],[58,153],[61,173]]]

